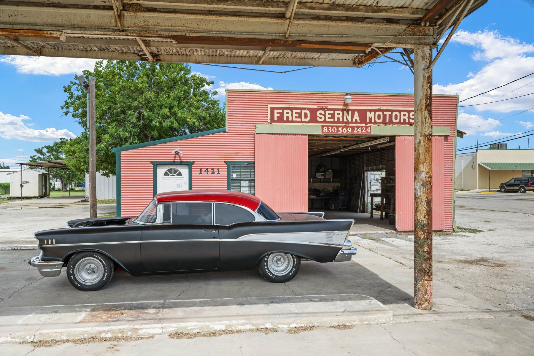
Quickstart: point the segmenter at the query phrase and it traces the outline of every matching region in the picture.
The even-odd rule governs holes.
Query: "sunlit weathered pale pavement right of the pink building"
[[[435,233],[434,278],[512,315],[534,317],[534,194],[461,193],[456,203],[462,229]],[[473,229],[482,232],[467,232]],[[374,233],[351,239],[413,266],[413,235]]]

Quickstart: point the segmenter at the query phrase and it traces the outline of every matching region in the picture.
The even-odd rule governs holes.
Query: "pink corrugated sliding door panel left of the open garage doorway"
[[[274,211],[308,211],[308,135],[257,134],[254,152],[256,195]]]

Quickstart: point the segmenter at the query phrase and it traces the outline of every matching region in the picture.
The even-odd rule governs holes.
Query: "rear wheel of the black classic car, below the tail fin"
[[[284,252],[265,255],[258,264],[260,274],[273,283],[284,283],[295,278],[300,268],[300,257]]]

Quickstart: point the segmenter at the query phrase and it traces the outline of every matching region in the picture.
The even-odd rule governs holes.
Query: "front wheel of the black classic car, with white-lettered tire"
[[[67,263],[67,278],[74,288],[84,292],[99,290],[113,278],[111,259],[98,252],[78,252]]]

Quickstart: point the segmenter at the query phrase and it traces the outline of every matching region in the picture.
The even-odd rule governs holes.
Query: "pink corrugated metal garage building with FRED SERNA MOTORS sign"
[[[457,96],[434,96],[434,230],[454,227],[457,112]],[[411,231],[412,119],[410,94],[351,93],[348,104],[345,93],[227,90],[225,128],[113,149],[117,216],[186,189],[247,192],[279,212],[325,210],[337,196],[332,204],[364,212],[376,187],[366,172],[384,171],[384,210]]]

